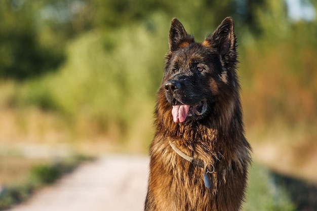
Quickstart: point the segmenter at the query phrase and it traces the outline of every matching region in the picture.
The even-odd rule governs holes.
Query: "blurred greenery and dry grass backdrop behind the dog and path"
[[[232,16],[254,158],[248,197],[256,198],[245,209],[316,210],[316,8],[313,0],[0,0],[0,209],[1,187],[41,175],[52,160],[147,154],[171,19],[203,41]]]

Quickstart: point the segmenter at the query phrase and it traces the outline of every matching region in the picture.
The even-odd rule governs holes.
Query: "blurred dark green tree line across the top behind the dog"
[[[197,40],[232,16],[242,47],[263,35],[273,40],[299,29],[291,28],[296,23],[289,21],[284,0],[2,0],[0,77],[25,79],[55,70],[66,44],[78,34],[147,22],[154,12],[190,24],[188,32],[195,32]]]

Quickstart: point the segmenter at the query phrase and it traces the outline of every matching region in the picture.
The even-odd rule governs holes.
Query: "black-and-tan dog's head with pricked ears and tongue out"
[[[220,101],[237,86],[235,49],[230,17],[202,43],[195,43],[184,26],[172,20],[162,87],[173,107],[174,122],[199,120],[217,112],[217,104],[221,106]]]

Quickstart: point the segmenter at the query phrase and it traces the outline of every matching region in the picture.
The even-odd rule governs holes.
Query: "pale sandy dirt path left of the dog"
[[[10,211],[143,210],[148,158],[107,155],[85,163]]]

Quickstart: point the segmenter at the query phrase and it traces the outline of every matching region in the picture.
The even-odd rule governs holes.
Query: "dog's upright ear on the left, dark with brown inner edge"
[[[181,24],[181,22],[176,18],[173,18],[169,38],[170,52],[176,51],[178,48],[184,47],[193,42],[193,37],[187,34],[183,24]]]

